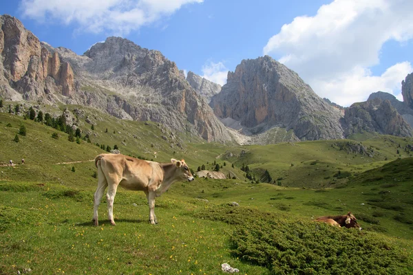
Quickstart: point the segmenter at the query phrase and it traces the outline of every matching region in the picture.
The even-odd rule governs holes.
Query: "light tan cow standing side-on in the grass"
[[[98,225],[98,207],[107,188],[107,211],[110,223],[114,221],[114,199],[118,186],[145,192],[149,204],[149,221],[158,223],[155,216],[155,197],[159,197],[175,181],[193,181],[184,159],[170,163],[149,162],[121,154],[100,154],[95,158],[98,168],[98,188],[94,194],[93,221]]]

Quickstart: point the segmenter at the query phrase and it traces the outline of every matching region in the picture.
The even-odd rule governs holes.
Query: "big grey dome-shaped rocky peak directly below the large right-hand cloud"
[[[299,140],[343,137],[339,110],[270,56],[237,65],[210,106],[226,126],[247,134],[279,127],[293,130]]]

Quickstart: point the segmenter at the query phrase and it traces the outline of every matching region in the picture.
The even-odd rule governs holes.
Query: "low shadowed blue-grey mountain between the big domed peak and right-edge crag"
[[[383,97],[383,95],[381,94]],[[372,96],[370,96],[372,97]],[[387,95],[385,97],[388,98]],[[354,103],[344,115],[346,136],[354,133],[377,132],[384,135],[412,136],[412,128],[403,120],[389,99],[372,99]]]

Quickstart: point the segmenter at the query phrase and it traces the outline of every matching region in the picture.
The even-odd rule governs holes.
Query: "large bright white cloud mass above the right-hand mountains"
[[[335,0],[314,17],[296,17],[268,40],[264,54],[294,69],[317,94],[347,106],[375,91],[395,96],[412,72],[410,63],[389,67],[372,76],[386,41],[413,38],[411,0]]]

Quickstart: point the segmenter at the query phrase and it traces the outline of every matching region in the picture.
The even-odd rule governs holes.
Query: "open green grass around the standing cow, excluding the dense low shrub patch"
[[[157,200],[156,212],[160,221],[157,226],[147,223],[144,195],[119,190],[114,210],[118,225],[110,227],[103,218],[104,225],[94,228],[89,220],[96,179],[92,177],[94,164],[89,160],[103,151],[86,142],[68,142],[63,132],[59,132],[59,140],[54,140],[51,137],[54,129],[0,113],[0,161],[21,157],[27,161],[24,166],[0,166],[0,201],[4,202],[0,205],[0,236],[4,240],[1,242],[1,272],[8,274],[30,267],[41,273],[65,270],[66,273],[110,274],[119,270],[125,273],[171,274],[182,270],[184,273],[215,274],[220,263],[227,261],[242,272],[265,274],[268,272],[265,268],[240,261],[230,253],[229,235],[233,232],[233,225],[193,216],[193,213],[229,201],[237,201],[241,207],[286,213],[290,221],[306,222],[313,216],[343,214],[351,210],[356,217],[363,218],[360,223],[366,232],[383,232],[377,234],[377,238],[400,246],[411,254],[412,225],[406,213],[412,211],[412,203],[408,199],[412,195],[412,186],[410,175],[405,174],[410,168],[410,159],[362,173],[395,159],[398,144],[404,146],[409,141],[391,137],[394,142],[389,142],[389,137],[386,140],[385,137],[375,137],[363,142],[379,152],[373,158],[343,155],[331,147],[337,141],[236,148],[193,143],[184,144],[182,149],[176,146],[176,142],[160,138],[165,132],[162,133],[157,124],[119,122],[100,116],[103,120],[95,126],[96,136],[93,135],[92,142],[112,147],[118,144],[123,153],[147,158],[153,157],[151,151],[156,148],[156,160],[184,157],[194,170],[214,160],[222,164],[225,159],[224,173],[232,170],[240,179],[197,179],[192,183],[175,184]],[[8,123],[12,127],[6,126]],[[28,135],[20,136],[20,142],[16,143],[12,139],[21,123],[26,125]],[[87,131],[89,126],[84,124],[81,128]],[[108,133],[105,133],[106,128]],[[184,137],[180,138],[184,140]],[[120,145],[123,140],[127,146]],[[246,151],[244,155],[240,155],[242,150]],[[233,152],[233,157],[229,157],[226,151]],[[388,161],[384,160],[385,157]],[[81,162],[56,164],[70,161]],[[281,180],[282,186],[250,184],[243,180],[240,170],[231,168],[231,162],[238,167],[244,162],[252,168],[267,168],[273,177],[285,179]],[[72,166],[76,172],[72,172]],[[317,168],[327,171],[319,173]],[[297,186],[311,186],[308,179],[325,184],[324,174],[331,176],[337,173],[337,168],[349,170],[353,175],[346,188],[320,191],[285,187],[295,181],[299,182]],[[391,179],[395,173],[397,181],[393,182]],[[105,216],[103,202],[100,217]],[[80,253],[75,254],[74,251]]]

